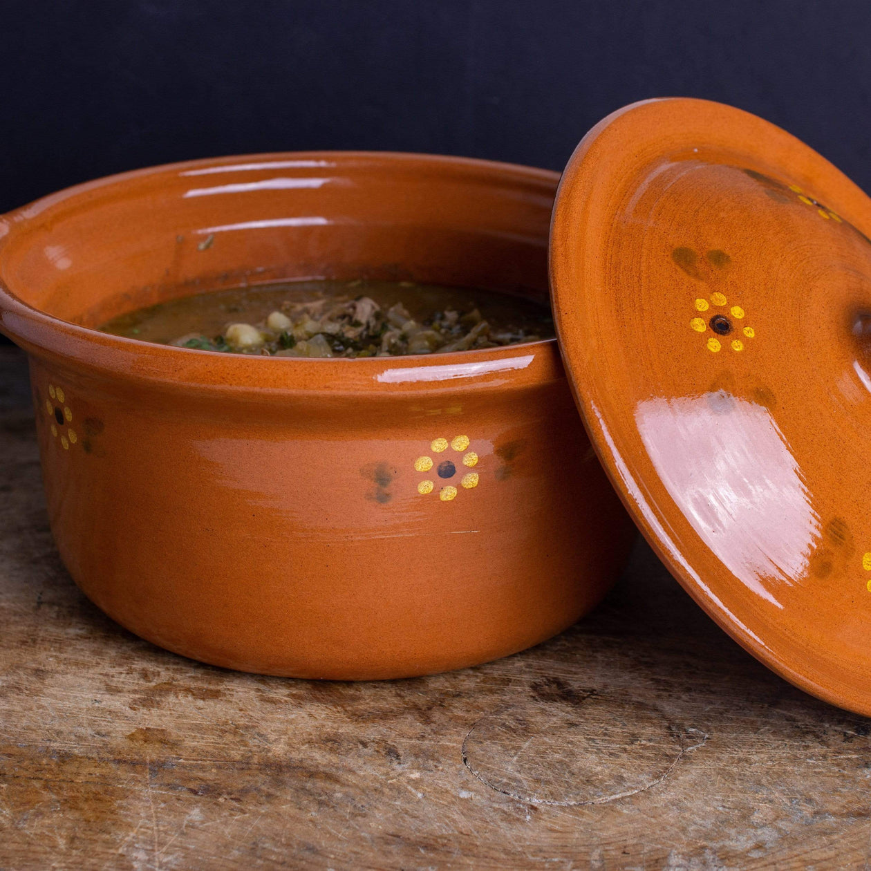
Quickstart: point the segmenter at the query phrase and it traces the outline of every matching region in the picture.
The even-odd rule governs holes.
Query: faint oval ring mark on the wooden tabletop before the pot
[[[686,750],[706,739],[687,732],[637,699],[595,692],[575,701],[530,699],[478,720],[463,741],[463,763],[483,784],[520,801],[604,804],[665,780]]]

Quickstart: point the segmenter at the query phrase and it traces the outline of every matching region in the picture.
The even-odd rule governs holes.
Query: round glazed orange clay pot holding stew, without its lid
[[[0,220],[0,328],[30,356],[51,529],[85,594],[171,651],[331,679],[480,663],[589,611],[632,527],[556,341],[297,360],[94,330],[312,277],[545,299],[556,186],[474,160],[279,154],[132,172]]]

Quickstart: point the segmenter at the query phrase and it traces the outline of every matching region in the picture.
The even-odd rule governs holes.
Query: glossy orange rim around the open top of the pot
[[[119,172],[50,193],[0,216],[0,262],[3,248],[46,209],[88,196],[101,188],[121,189],[133,181],[166,175],[232,172],[297,167],[421,163],[449,175],[502,185],[540,186],[555,192],[560,173],[495,160],[415,152],[264,152],[180,161]],[[397,355],[366,358],[304,358],[222,354],[141,341],[63,321],[20,299],[0,278],[0,332],[29,354],[56,363],[132,381],[160,382],[215,390],[267,389],[288,393],[356,394],[375,389],[388,393],[456,388],[521,387],[564,378],[556,339],[452,354]]]

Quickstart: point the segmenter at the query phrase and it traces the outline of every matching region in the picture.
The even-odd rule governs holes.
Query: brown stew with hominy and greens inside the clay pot
[[[554,334],[550,308],[532,300],[363,280],[299,281],[187,296],[123,314],[100,329],[200,350],[345,357],[493,348]]]

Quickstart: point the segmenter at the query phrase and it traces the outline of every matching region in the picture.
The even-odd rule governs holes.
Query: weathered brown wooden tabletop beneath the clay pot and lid
[[[866,867],[869,721],[767,672],[641,544],[571,631],[432,678],[134,638],[58,561],[25,377],[0,348],[0,867]]]

